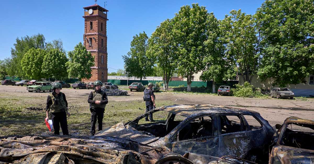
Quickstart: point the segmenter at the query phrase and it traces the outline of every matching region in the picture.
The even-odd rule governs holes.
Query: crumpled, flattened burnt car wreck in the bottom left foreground
[[[166,147],[152,147],[114,137],[0,137],[0,163],[155,164],[158,161],[192,164]]]

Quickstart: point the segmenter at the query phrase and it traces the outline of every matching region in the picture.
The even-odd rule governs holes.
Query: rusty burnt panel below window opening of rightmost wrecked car
[[[312,163],[314,151],[289,146],[275,146],[272,156],[273,163]]]

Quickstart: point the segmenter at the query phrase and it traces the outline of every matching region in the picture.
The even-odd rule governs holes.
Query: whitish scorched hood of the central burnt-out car
[[[111,136],[120,137],[127,140],[136,141],[141,144],[148,144],[159,139],[153,135],[146,135],[133,127],[126,125],[123,122],[115,124],[105,130],[101,130],[95,134],[95,136]]]

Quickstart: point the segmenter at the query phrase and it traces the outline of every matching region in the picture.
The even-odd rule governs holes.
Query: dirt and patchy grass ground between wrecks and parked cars
[[[126,86],[119,86],[123,88]],[[128,89],[126,89],[128,90]],[[69,131],[72,135],[87,135],[90,127],[90,111],[87,98],[92,90],[62,88],[69,111]],[[46,98],[49,92],[28,92],[23,86],[0,85],[0,136],[49,134],[44,124]],[[314,99],[306,101],[276,98],[240,98],[204,93],[160,92],[156,95],[156,107],[173,104],[212,104],[223,107],[257,111],[272,126],[284,119],[296,116],[314,119]],[[108,96],[103,128],[118,122],[126,122],[144,113],[143,92],[130,92],[127,96]],[[157,117],[157,116],[156,116]],[[159,119],[158,117],[154,119]],[[96,125],[97,127],[97,125]],[[97,128],[96,128],[97,130]]]

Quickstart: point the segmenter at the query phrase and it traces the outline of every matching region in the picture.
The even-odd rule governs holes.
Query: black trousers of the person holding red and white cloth
[[[69,135],[67,114],[65,113],[65,111],[51,113],[51,120],[53,124],[53,129],[55,130],[55,135],[60,135],[60,126],[63,135]]]

